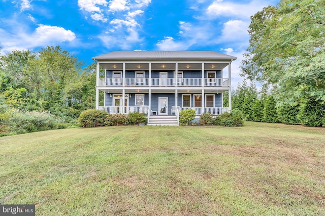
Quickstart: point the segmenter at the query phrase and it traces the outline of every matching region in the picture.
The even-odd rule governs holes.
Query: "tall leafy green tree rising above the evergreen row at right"
[[[272,84],[278,102],[325,101],[325,1],[281,0],[251,17],[242,75]]]

